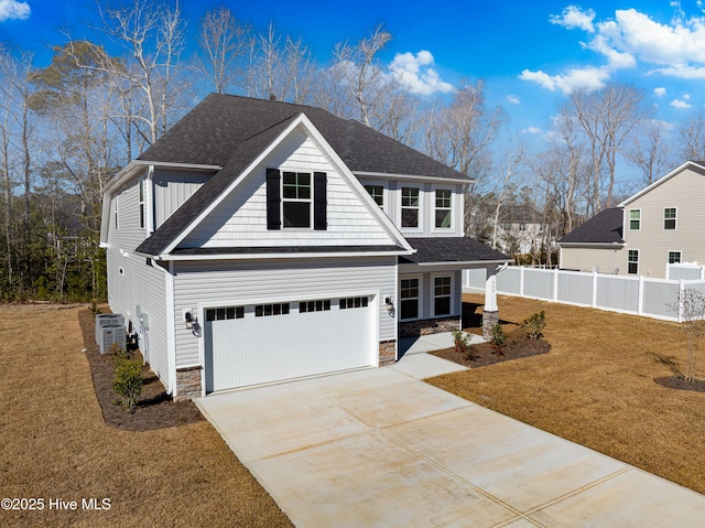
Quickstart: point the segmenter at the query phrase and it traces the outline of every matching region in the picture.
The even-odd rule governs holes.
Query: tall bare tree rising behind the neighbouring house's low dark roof
[[[605,205],[612,205],[617,174],[617,157],[625,141],[646,118],[643,93],[629,85],[609,84],[597,91],[576,89],[570,96],[562,112],[572,116],[581,125],[592,159],[593,214],[603,207],[603,177],[607,174]]]

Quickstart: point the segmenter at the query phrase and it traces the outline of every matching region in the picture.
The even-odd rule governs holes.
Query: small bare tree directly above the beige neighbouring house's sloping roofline
[[[663,121],[650,119],[632,136],[625,154],[631,164],[641,170],[640,186],[651,185],[674,164],[666,133]]]

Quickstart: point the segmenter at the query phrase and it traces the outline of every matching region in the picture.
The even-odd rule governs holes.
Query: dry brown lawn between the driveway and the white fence
[[[482,303],[481,295],[466,301]],[[549,354],[430,382],[503,414],[705,493],[705,392],[654,381],[683,364],[675,323],[502,297],[502,320],[545,310]],[[705,377],[705,357],[698,378]],[[468,449],[473,449],[468,445]]]

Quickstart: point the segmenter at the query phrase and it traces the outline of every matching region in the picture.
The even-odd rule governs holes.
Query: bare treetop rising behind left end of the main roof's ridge
[[[250,32],[226,7],[207,11],[200,20],[197,41],[202,56],[197,58],[197,67],[216,93],[225,94],[240,75],[239,63],[247,51]]]

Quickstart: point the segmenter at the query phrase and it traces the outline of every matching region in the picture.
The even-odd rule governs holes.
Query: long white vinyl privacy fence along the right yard
[[[463,270],[463,291],[484,293],[485,269]],[[679,291],[705,294],[705,280],[649,279],[510,266],[497,273],[497,293],[680,322]]]

